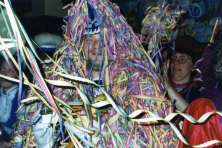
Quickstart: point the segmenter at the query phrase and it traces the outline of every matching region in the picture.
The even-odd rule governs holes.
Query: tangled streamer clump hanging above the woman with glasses
[[[148,53],[155,62],[156,71],[160,69],[162,44],[171,42],[178,34],[178,20],[186,11],[176,4],[163,3],[147,8],[146,17],[142,21],[141,42],[148,45]],[[174,31],[173,31],[174,30]]]

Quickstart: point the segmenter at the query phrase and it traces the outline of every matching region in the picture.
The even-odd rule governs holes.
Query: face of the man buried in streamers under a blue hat
[[[95,63],[93,70],[98,71],[102,59],[102,41],[99,42],[99,34],[83,38],[83,52],[90,67]]]

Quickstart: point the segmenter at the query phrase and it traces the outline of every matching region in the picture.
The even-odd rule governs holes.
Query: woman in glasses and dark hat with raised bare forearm
[[[176,109],[180,111],[184,111],[188,105],[186,89],[192,79],[191,74],[195,71],[194,63],[191,51],[177,47],[170,60],[164,62],[163,65],[162,83],[168,97],[175,100]]]

